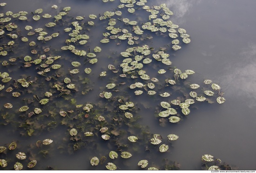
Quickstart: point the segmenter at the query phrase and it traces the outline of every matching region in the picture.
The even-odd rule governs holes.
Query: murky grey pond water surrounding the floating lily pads
[[[139,1],[139,0],[137,0]],[[144,2],[145,0],[141,0]],[[8,73],[12,78],[10,81],[3,82],[1,77],[1,86],[5,86],[0,91],[0,146],[7,149],[0,153],[1,161],[6,160],[7,166],[1,170],[13,170],[16,162],[23,164],[23,169],[27,170],[27,164],[31,160],[37,160],[34,170],[106,170],[106,165],[114,163],[118,170],[145,170],[148,168],[158,169],[180,169],[180,170],[201,170],[204,154],[214,156],[214,159],[222,160],[220,165],[229,164],[232,169],[255,170],[256,155],[256,80],[254,75],[256,69],[256,35],[254,34],[256,23],[254,16],[256,11],[256,1],[252,0],[148,0],[145,5],[155,10],[148,12],[143,9],[143,5],[134,3],[134,7],[124,3],[125,0],[114,0],[103,2],[102,0],[23,0],[22,4],[18,0],[1,1],[7,5],[0,7],[2,13],[1,19],[10,17],[11,20],[0,23],[0,29],[5,33],[1,34],[1,51],[7,51],[7,55],[0,55],[0,73]],[[134,2],[136,2],[134,0]],[[19,5],[17,5],[19,4]],[[121,5],[127,7],[122,7]],[[157,18],[163,19],[166,14],[161,4],[166,4],[173,15],[169,19],[173,24],[183,28],[189,34],[191,42],[185,44],[178,34],[182,48],[173,50],[172,40],[167,32],[150,31],[143,29],[142,25],[150,21],[153,23],[151,13],[156,13]],[[57,9],[52,8],[57,5]],[[156,7],[154,7],[156,6]],[[157,13],[157,8],[160,12]],[[62,19],[55,20],[56,16],[64,7],[71,7]],[[42,13],[36,13],[35,10],[42,8]],[[128,12],[128,9],[134,9],[135,12]],[[7,16],[7,12],[19,13],[28,12],[27,20],[19,20],[12,15]],[[108,16],[105,12],[121,11],[121,15]],[[33,13],[30,13],[33,12]],[[43,14],[51,14],[50,18],[43,18]],[[105,13],[105,14],[104,14]],[[170,12],[169,12],[170,13]],[[94,14],[96,19],[90,19],[88,16]],[[39,15],[40,20],[33,20],[34,15]],[[100,20],[100,16],[107,16],[107,19]],[[76,17],[84,17],[77,20]],[[58,18],[60,16],[56,16]],[[137,21],[137,25],[125,23],[123,18],[130,21]],[[150,20],[150,18],[152,18]],[[108,30],[109,20],[115,19],[116,24],[113,27],[120,28],[121,32],[114,33],[114,30]],[[54,21],[55,20],[55,21]],[[75,33],[74,28],[81,27],[80,33],[86,34],[89,38],[84,45],[80,45],[80,40],[69,44],[65,43],[72,36],[68,33]],[[93,21],[94,25],[89,25],[88,21]],[[8,31],[5,27],[8,23],[17,24],[17,28]],[[48,22],[54,22],[56,26],[45,26]],[[112,24],[110,24],[112,25]],[[26,26],[32,26],[33,29],[26,30]],[[136,26],[139,26],[143,34],[136,34]],[[161,24],[155,24],[160,28]],[[70,27],[72,30],[65,32],[64,29]],[[172,26],[174,27],[174,26]],[[36,28],[43,28],[44,38],[52,33],[59,33],[59,36],[51,40],[38,40],[39,33],[27,35],[30,31],[34,32]],[[171,27],[167,27],[170,29]],[[126,40],[119,38],[109,39],[109,43],[102,43],[101,40],[109,38],[110,35],[129,35],[129,40],[134,44],[128,44]],[[103,35],[109,33],[109,36]],[[10,35],[16,34],[17,38],[12,39]],[[43,34],[43,33],[41,33]],[[127,34],[128,35],[128,34]],[[22,41],[24,37],[27,42]],[[13,46],[7,45],[13,40]],[[29,46],[34,41],[35,46]],[[132,42],[132,41],[131,41]],[[74,45],[78,50],[87,52],[87,55],[79,56],[71,50],[63,50],[65,46]],[[148,45],[144,46],[144,45]],[[148,52],[141,53],[136,51],[136,47],[144,46]],[[49,47],[49,52],[44,49]],[[94,47],[100,47],[101,52],[94,51]],[[130,53],[132,55],[124,57],[121,55],[127,48],[135,47]],[[31,53],[34,49],[37,53]],[[66,48],[73,49],[73,48]],[[168,53],[168,59],[171,65],[166,65],[154,58],[153,54],[163,51]],[[95,57],[88,57],[88,53],[95,53]],[[42,57],[45,54],[50,61]],[[122,64],[126,58],[135,61],[135,56],[141,55],[143,60],[135,63],[141,63],[143,67]],[[32,60],[24,60],[25,56],[31,56]],[[60,56],[57,59],[56,56]],[[15,58],[16,61],[11,61]],[[97,60],[96,63],[92,59]],[[146,58],[152,60],[146,63]],[[38,64],[35,60],[42,59]],[[145,61],[144,61],[145,60]],[[4,61],[8,62],[6,66]],[[81,65],[75,67],[74,61]],[[143,61],[143,63],[142,63]],[[24,67],[31,64],[30,67]],[[54,69],[52,65],[61,65]],[[48,65],[48,67],[46,67]],[[108,65],[113,65],[111,69]],[[28,65],[29,66],[29,65]],[[123,71],[125,66],[134,66],[128,72]],[[49,72],[46,69],[49,68]],[[85,69],[90,68],[91,73],[85,73]],[[109,69],[110,68],[110,69]],[[189,74],[187,79],[178,78],[175,80],[174,69],[193,70],[195,74]],[[70,73],[77,69],[79,73]],[[125,69],[125,68],[124,68]],[[166,73],[160,74],[158,70],[164,69]],[[139,70],[144,70],[146,74],[159,81],[148,79],[142,80]],[[71,71],[72,72],[72,71]],[[106,76],[100,76],[101,72],[106,72]],[[114,72],[114,73],[113,73]],[[120,77],[126,74],[126,77]],[[6,77],[5,77],[6,78]],[[19,79],[32,81],[28,87],[21,86]],[[68,88],[69,83],[64,79],[69,78],[74,88]],[[167,80],[166,80],[167,79]],[[176,81],[175,85],[170,85],[168,80]],[[211,88],[211,84],[204,84],[204,80],[212,80],[221,87],[225,102],[218,104],[217,97],[222,97],[222,93]],[[143,85],[154,83],[155,88],[150,89],[147,86],[131,89],[130,86],[136,82]],[[108,89],[107,84],[114,83],[115,87]],[[190,84],[198,84],[198,89],[191,89]],[[23,83],[24,85],[24,83]],[[137,86],[140,83],[136,83]],[[6,92],[8,87],[13,91]],[[141,90],[141,95],[135,95],[136,90]],[[148,90],[156,93],[148,94]],[[214,96],[207,96],[203,92],[212,90]],[[207,98],[205,101],[197,101],[189,95],[195,91],[199,96]],[[12,93],[20,93],[19,97],[13,97]],[[46,92],[52,93],[47,97]],[[104,95],[105,92],[105,96]],[[107,94],[112,96],[107,99]],[[162,97],[159,94],[170,93],[169,97]],[[102,95],[100,93],[103,93]],[[100,96],[101,95],[101,96]],[[103,98],[102,98],[103,97]],[[42,99],[48,99],[46,104],[41,104]],[[174,105],[172,100],[194,99],[195,103],[189,106],[190,113],[184,115],[181,106]],[[121,105],[129,105],[127,110],[122,110]],[[175,115],[169,115],[166,118],[159,116],[159,113],[167,110],[161,106],[161,102],[167,102],[177,111]],[[6,108],[4,105],[11,103],[12,108]],[[89,104],[89,105],[87,105]],[[131,103],[130,103],[131,104]],[[80,105],[80,106],[79,106]],[[21,112],[21,106],[28,106],[29,109]],[[90,109],[85,106],[93,106]],[[121,107],[120,107],[121,106]],[[125,107],[127,106],[123,106]],[[41,113],[31,113],[35,108],[40,108]],[[67,115],[61,116],[60,112],[65,111]],[[127,118],[125,112],[132,113],[132,118]],[[30,113],[30,114],[29,114]],[[99,116],[103,116],[105,121],[99,121]],[[170,116],[177,116],[181,120],[177,123],[169,122]],[[160,122],[161,121],[161,122]],[[102,127],[108,127],[108,131],[101,133]],[[78,133],[71,135],[71,129],[76,129]],[[92,132],[93,136],[85,136],[84,133]],[[109,140],[102,139],[101,135],[109,135]],[[156,137],[159,134],[161,137]],[[179,136],[177,140],[168,140],[169,134]],[[138,140],[131,142],[129,136],[136,136]],[[154,145],[151,140],[161,139],[161,143]],[[51,139],[53,142],[49,145],[37,146],[38,140],[43,141]],[[11,142],[16,142],[17,147],[9,150]],[[167,152],[160,152],[159,146],[168,145]],[[109,158],[109,152],[118,153],[116,159]],[[20,160],[16,154],[23,152],[27,158]],[[132,154],[131,158],[121,157],[122,152]],[[90,160],[97,157],[100,163],[92,166]],[[106,160],[104,159],[106,157]],[[148,166],[141,168],[138,166],[140,160],[148,160]],[[214,162],[214,161],[213,161]],[[213,162],[207,162],[208,166]]]

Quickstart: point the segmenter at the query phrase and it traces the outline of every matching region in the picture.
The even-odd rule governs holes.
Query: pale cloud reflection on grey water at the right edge
[[[239,54],[240,61],[230,62],[224,70],[225,90],[234,97],[238,96],[250,108],[256,106],[256,44],[248,43]]]

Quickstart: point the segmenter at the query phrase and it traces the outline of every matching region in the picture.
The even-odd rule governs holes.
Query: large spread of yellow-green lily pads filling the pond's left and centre
[[[114,160],[129,159],[136,154],[132,151],[135,143],[139,147],[146,146],[146,151],[169,152],[167,143],[157,146],[164,140],[160,134],[151,133],[150,127],[140,124],[137,98],[154,97],[160,104],[153,107],[160,123],[167,120],[179,123],[189,115],[189,106],[196,102],[225,102],[218,84],[204,80],[200,87],[189,81],[189,76],[195,74],[193,70],[182,72],[172,66],[172,54],[191,40],[184,28],[170,20],[173,13],[166,4],[149,7],[147,0],[120,2],[115,11],[99,15],[73,17],[71,7],[60,9],[57,5],[52,6],[51,14],[43,13],[42,8],[31,12],[32,16],[25,11],[0,13],[0,60],[4,67],[0,70],[0,92],[7,97],[1,125],[19,128],[24,138],[66,126],[65,140],[59,146],[60,150],[64,148],[61,152],[90,150],[89,144],[106,142],[111,161],[105,168],[115,170],[118,167]],[[7,3],[0,3],[2,7],[5,5]],[[147,18],[134,20],[137,12]],[[37,21],[46,23],[38,27]],[[24,23],[25,27],[19,26]],[[90,47],[90,31],[96,23],[105,26],[104,32],[100,33],[98,46]],[[52,48],[51,44],[61,39],[61,34],[67,39],[61,40],[60,47]],[[170,45],[154,47],[150,41],[155,37],[168,40]],[[95,100],[87,97],[99,87],[94,86],[92,80],[95,79],[90,75],[97,72],[95,64],[104,59],[100,57],[102,52],[108,52],[104,49],[106,44],[121,49],[109,55],[114,59],[112,63],[102,67],[104,71],[98,75],[102,80],[101,91]],[[19,68],[14,68],[17,65]],[[9,99],[13,97],[20,99],[22,106],[13,104]],[[155,114],[151,117],[155,118]],[[179,136],[169,134],[167,138],[171,143]],[[52,142],[39,140],[35,145],[40,147],[41,143]],[[6,146],[0,147],[1,158],[6,157],[2,154],[5,150]],[[41,153],[47,157],[47,151]],[[102,165],[107,160],[105,155],[102,153],[100,159],[89,156],[90,164]],[[24,157],[26,159],[26,155]],[[179,164],[165,162],[165,165],[155,166],[145,158],[138,160],[138,166],[146,168],[152,164],[148,170],[179,169]],[[31,160],[27,167],[32,168],[36,163]],[[0,166],[7,166],[6,159],[0,159]],[[14,169],[22,167],[18,162],[14,165]]]

